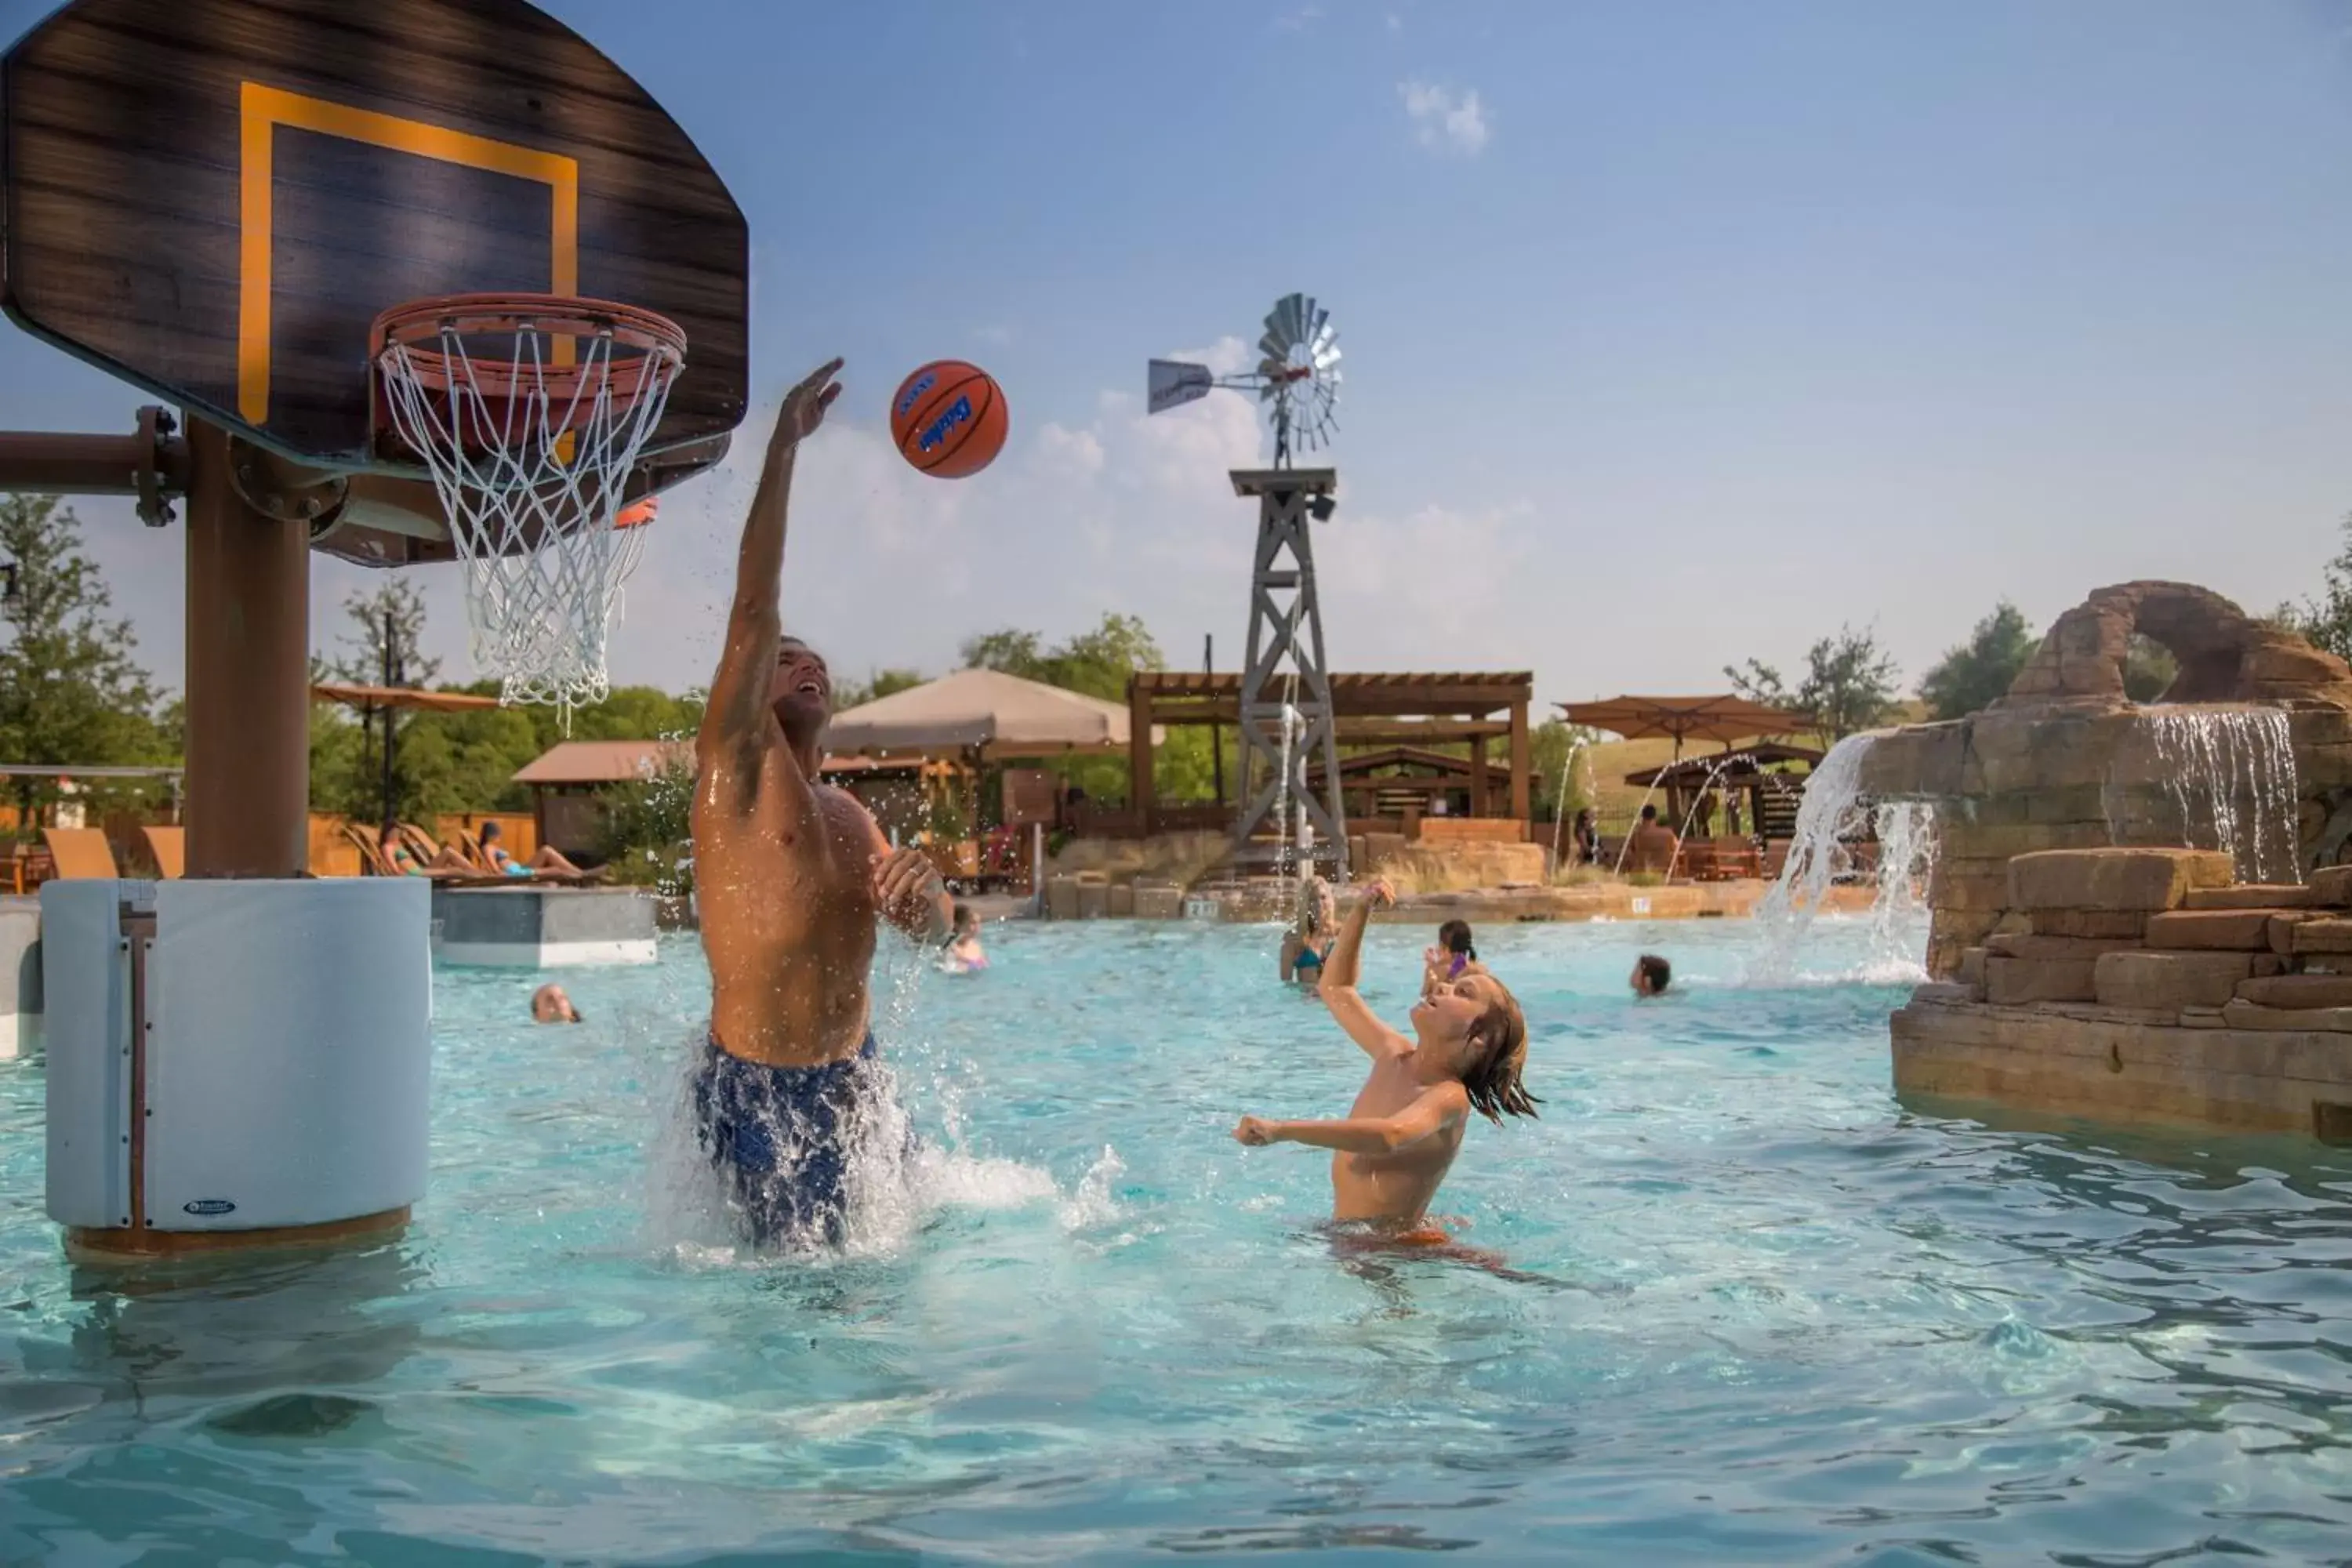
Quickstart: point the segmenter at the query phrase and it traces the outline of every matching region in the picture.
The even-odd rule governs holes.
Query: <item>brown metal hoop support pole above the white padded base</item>
[[[188,430],[188,875],[310,860],[310,536],[238,494],[228,433]]]

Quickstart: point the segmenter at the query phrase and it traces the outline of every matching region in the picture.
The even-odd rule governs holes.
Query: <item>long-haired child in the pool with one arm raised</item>
[[[1371,882],[1324,959],[1324,1006],[1371,1058],[1371,1077],[1348,1117],[1242,1117],[1232,1135],[1249,1147],[1305,1143],[1331,1150],[1334,1222],[1364,1227],[1388,1244],[1442,1246],[1446,1234],[1428,1220],[1430,1199],[1454,1168],[1470,1112],[1496,1126],[1505,1114],[1536,1114],[1534,1095],[1519,1086],[1526,1018],[1501,980],[1463,973],[1414,1004],[1411,1039],[1381,1023],[1355,983],[1371,910],[1395,900],[1388,882]]]

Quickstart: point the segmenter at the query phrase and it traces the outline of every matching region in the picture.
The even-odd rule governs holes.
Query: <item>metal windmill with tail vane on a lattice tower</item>
[[[1275,425],[1275,465],[1235,468],[1232,494],[1258,498],[1258,548],[1249,574],[1249,663],[1242,670],[1242,813],[1235,860],[1291,853],[1348,875],[1348,813],[1341,804],[1338,729],[1331,722],[1331,675],[1324,665],[1322,607],[1315,597],[1315,543],[1308,524],[1336,508],[1331,468],[1294,468],[1294,449],[1329,444],[1338,404],[1338,331],[1331,313],[1305,294],[1284,294],[1265,313],[1258,367],[1218,376],[1207,364],[1150,362],[1148,409],[1160,414],[1207,397],[1214,388],[1256,393]],[[1308,790],[1308,759],[1322,764],[1324,795]],[[1148,806],[1150,802],[1136,802]],[[1284,806],[1296,811],[1287,820]],[[1272,825],[1275,844],[1256,842]]]

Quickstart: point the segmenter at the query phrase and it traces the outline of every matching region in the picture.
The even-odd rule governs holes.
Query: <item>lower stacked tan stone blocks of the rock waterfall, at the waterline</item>
[[[2352,867],[2180,849],[2009,860],[2009,931],[1893,1016],[1896,1088],[2352,1140]]]

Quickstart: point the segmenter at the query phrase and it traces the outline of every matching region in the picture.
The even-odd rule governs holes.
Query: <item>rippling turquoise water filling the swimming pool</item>
[[[1743,987],[1740,924],[1496,929],[1543,1119],[1472,1126],[1439,1208],[1515,1276],[1343,1267],[1327,1157],[1230,1140],[1364,1072],[1275,940],[891,957],[927,1152],[828,1258],[699,1211],[691,940],[567,973],[581,1027],[440,973],[433,1190],[362,1253],[71,1269],[0,1065],[0,1561],[2352,1552],[2343,1152],[1905,1110],[1900,987]],[[1374,931],[1388,1016],[1425,940]]]

